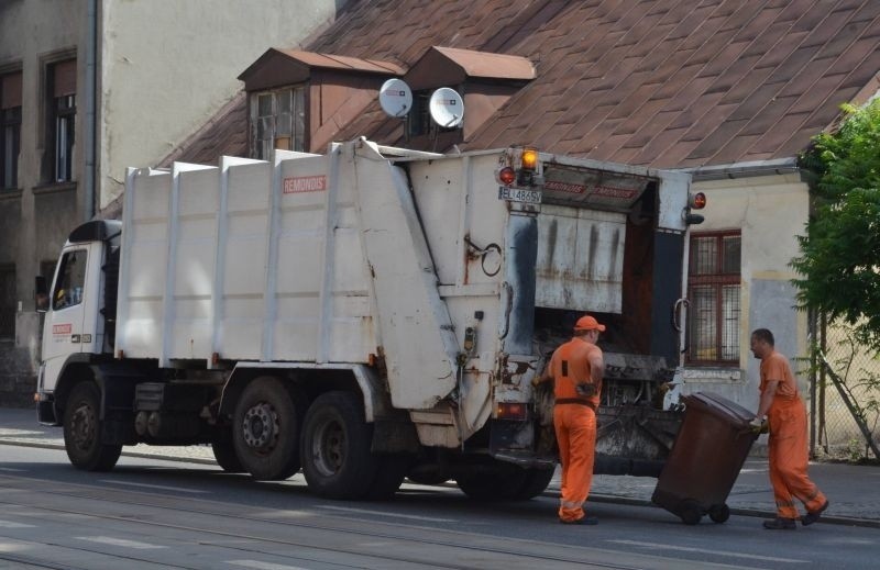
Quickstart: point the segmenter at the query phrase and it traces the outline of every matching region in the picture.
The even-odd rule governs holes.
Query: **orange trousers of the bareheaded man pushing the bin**
[[[768,413],[770,439],[770,483],[777,502],[777,515],[798,518],[794,500],[807,511],[825,504],[825,495],[806,474],[809,461],[806,443],[806,410],[800,399],[774,405]]]

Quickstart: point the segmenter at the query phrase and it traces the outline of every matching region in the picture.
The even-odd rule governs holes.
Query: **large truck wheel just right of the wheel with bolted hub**
[[[302,474],[319,496],[364,499],[380,462],[370,451],[373,429],[351,392],[327,392],[312,402],[302,425]]]

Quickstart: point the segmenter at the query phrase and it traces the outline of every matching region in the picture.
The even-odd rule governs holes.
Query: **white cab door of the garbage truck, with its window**
[[[89,275],[88,247],[68,247],[62,253],[50,291],[50,311],[43,327],[44,389],[54,390],[62,367],[69,355],[82,351],[84,338],[91,342],[94,332],[86,332]]]

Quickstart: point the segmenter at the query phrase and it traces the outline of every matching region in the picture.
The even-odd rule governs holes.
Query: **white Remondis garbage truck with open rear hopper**
[[[130,168],[121,220],[74,228],[51,282],[37,418],[70,462],[209,445],[331,499],[405,478],[528,499],[556,466],[530,380],[607,325],[596,472],[659,472],[681,423],[690,176],[365,138],[323,155]]]

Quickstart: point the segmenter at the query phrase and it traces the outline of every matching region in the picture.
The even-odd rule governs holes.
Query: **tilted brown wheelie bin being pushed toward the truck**
[[[725,504],[757,435],[755,414],[721,395],[684,396],[684,422],[651,501],[695,525],[704,514],[716,523],[730,516]]]

